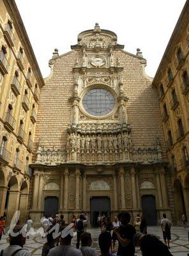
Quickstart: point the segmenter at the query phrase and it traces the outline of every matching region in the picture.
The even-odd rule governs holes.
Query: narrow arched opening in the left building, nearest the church
[[[27,182],[24,181],[22,183],[22,186],[20,188],[20,222],[25,223],[26,222],[26,215],[27,215],[27,204],[28,204],[28,187]]]

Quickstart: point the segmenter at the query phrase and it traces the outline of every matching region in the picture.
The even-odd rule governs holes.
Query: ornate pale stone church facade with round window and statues
[[[146,60],[123,50],[112,31],[79,34],[72,51],[55,49],[40,91],[29,214],[144,211],[151,225],[171,218],[167,156]],[[53,207],[52,207],[53,205]],[[151,205],[149,207],[149,205]],[[53,209],[52,209],[53,208]]]

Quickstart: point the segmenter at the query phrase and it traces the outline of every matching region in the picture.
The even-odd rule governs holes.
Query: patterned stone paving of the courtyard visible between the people
[[[98,229],[88,229],[88,232],[91,232],[93,238],[92,247],[96,249],[97,255],[100,254],[100,250],[98,249],[98,235],[100,234],[100,230]],[[189,242],[188,242],[188,228],[183,227],[172,227],[172,242],[170,244],[170,252],[174,256],[186,256],[189,253]],[[160,237],[162,240],[162,231],[160,227],[149,227],[149,234],[155,234]],[[45,243],[46,239],[42,239],[40,236],[31,237],[27,239],[25,248],[27,248],[32,255],[42,255],[42,247]],[[76,244],[76,237],[73,238],[73,245]],[[2,237],[0,241],[0,248],[4,249],[8,246],[8,237]],[[136,248],[137,256],[141,255],[139,248]],[[163,256],[163,255],[162,255]]]

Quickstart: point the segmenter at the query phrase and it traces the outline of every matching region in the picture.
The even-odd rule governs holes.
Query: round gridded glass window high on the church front
[[[114,108],[115,99],[109,91],[103,88],[94,88],[86,92],[82,104],[87,113],[93,116],[104,116]]]

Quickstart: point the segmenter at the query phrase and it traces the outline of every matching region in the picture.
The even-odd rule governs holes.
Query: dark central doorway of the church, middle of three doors
[[[110,216],[110,198],[108,196],[93,196],[90,200],[91,227],[97,227],[97,218],[100,214]]]

